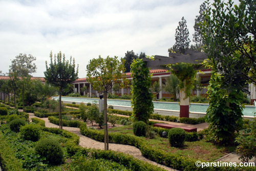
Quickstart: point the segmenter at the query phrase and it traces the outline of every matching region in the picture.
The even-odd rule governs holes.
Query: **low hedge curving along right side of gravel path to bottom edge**
[[[80,132],[82,135],[88,136],[92,139],[103,142],[104,133],[88,129],[86,126],[80,126]],[[140,149],[142,155],[152,161],[156,161],[159,164],[166,165],[168,167],[172,167],[179,170],[239,170],[240,168],[235,167],[197,167],[195,165],[196,159],[191,159],[188,157],[183,157],[171,153],[166,153],[162,150],[157,150],[154,147],[148,145],[148,143],[139,137],[134,135],[126,135],[121,133],[109,133],[110,142],[127,144],[136,146],[136,148]],[[206,161],[202,161],[206,162]],[[240,170],[254,170],[255,167],[242,167]]]

